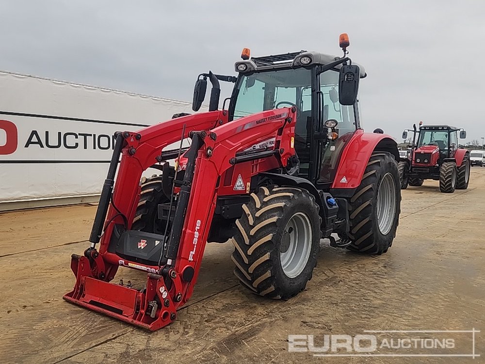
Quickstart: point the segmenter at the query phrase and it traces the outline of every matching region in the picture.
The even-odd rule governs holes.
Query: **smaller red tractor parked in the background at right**
[[[455,189],[466,190],[470,179],[470,153],[468,149],[458,147],[460,139],[467,137],[467,132],[448,125],[426,125],[420,122],[413,130],[413,144],[410,158],[401,158],[398,164],[401,188],[421,186],[424,180],[439,181],[439,190],[453,193]],[[418,136],[416,144],[416,136]]]

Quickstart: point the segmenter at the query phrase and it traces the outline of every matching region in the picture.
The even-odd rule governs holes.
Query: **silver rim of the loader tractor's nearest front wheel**
[[[310,256],[312,229],[308,216],[301,212],[291,216],[283,240],[286,242],[282,242],[281,267],[287,277],[295,278],[303,272]]]

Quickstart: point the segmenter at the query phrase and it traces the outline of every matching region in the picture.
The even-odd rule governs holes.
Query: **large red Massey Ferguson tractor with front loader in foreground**
[[[242,286],[276,299],[305,289],[321,238],[385,253],[400,214],[399,152],[361,129],[366,73],[348,46],[342,34],[342,57],[244,49],[237,77],[199,76],[193,109],[209,79],[208,112],[116,133],[91,245],[72,255],[64,299],[153,331],[191,297],[206,242],[230,241]],[[222,109],[219,82],[234,83]],[[148,168],[161,174],[142,179]],[[146,284],[111,283],[119,267],[146,272]]]

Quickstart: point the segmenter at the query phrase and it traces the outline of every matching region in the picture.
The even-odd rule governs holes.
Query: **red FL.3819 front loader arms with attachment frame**
[[[235,164],[265,158],[286,166],[294,155],[294,107],[269,110],[226,124],[223,113],[183,116],[138,133],[123,133],[125,146],[113,190],[114,206],[103,219],[108,226],[100,238],[99,253],[96,242],[92,242],[84,256],[73,255],[71,268],[76,285],[65,295],[66,300],[152,331],[176,318],[177,309],[194,290],[221,175]],[[108,251],[113,227],[124,222],[124,215],[126,228],[130,228],[142,172],[157,161],[163,148],[180,139],[184,124],[184,137],[192,137],[192,145],[186,153],[187,167],[164,253],[166,264],[134,264]],[[268,137],[275,137],[274,149],[242,152]],[[146,289],[109,283],[119,265],[149,272]]]

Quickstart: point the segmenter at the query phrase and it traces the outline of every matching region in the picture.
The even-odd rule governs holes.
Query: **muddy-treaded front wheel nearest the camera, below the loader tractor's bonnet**
[[[304,290],[320,249],[319,207],[307,190],[261,187],[251,194],[232,238],[234,274],[242,285],[268,298]]]

